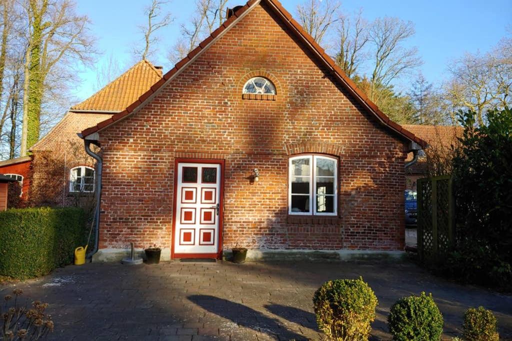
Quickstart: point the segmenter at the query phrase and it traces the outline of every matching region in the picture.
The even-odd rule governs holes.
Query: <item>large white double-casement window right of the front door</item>
[[[289,158],[288,214],[337,215],[338,160],[324,155]]]

